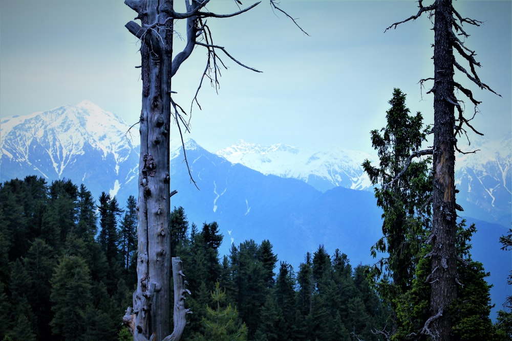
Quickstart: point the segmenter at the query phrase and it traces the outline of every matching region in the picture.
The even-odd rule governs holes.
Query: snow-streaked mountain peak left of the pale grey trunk
[[[0,122],[0,180],[32,174],[72,179],[95,197],[137,178],[137,129],[90,101]],[[121,193],[123,192],[121,190]]]

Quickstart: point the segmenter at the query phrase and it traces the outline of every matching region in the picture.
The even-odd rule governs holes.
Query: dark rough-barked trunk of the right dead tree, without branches
[[[455,249],[455,103],[452,0],[437,0],[434,22],[434,157],[431,312],[433,333],[450,340],[452,326],[447,309],[457,297]]]

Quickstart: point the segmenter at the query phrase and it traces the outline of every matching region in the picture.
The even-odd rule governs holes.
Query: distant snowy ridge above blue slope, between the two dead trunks
[[[311,151],[281,143],[265,146],[243,140],[219,150],[217,155],[265,175],[303,180],[321,191],[338,186],[357,190],[371,188],[361,164],[366,159],[376,159],[367,153],[342,148]]]

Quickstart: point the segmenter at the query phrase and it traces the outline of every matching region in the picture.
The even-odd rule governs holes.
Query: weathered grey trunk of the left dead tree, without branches
[[[134,340],[168,340],[171,339],[173,307],[168,225],[173,19],[168,18],[164,9],[172,8],[173,3],[172,0],[126,0],[125,4],[135,10],[136,19],[141,20],[141,26],[130,21],[126,28],[140,39],[142,61],[137,289],[133,296],[133,314],[129,309],[126,315],[132,316],[125,316],[125,320],[131,319]],[[181,267],[181,262],[178,263]],[[179,271],[182,274],[181,268]],[[182,288],[182,284],[179,287]],[[178,300],[182,295],[180,292]],[[178,319],[182,332],[186,311],[182,303],[174,306],[183,314],[183,319]],[[178,340],[181,332],[172,339]]]

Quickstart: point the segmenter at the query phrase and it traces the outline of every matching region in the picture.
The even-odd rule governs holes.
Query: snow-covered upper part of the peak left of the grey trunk
[[[14,129],[16,127],[16,129]],[[11,117],[0,126],[0,157],[15,161],[29,161],[33,143],[44,146],[58,176],[84,153],[84,146],[100,149],[103,158],[114,156],[116,163],[125,160],[138,141],[130,140],[130,126],[91,101],[66,105],[23,117]]]

